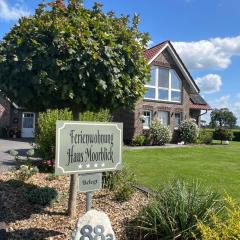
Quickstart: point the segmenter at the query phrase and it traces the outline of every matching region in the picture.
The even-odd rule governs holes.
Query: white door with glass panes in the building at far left
[[[32,138],[35,130],[35,113],[22,113],[22,137]]]

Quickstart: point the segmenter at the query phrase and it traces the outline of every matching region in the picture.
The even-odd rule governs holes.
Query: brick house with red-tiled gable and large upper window
[[[151,67],[151,81],[146,84],[143,99],[134,110],[121,109],[114,114],[114,121],[124,123],[124,140],[143,134],[154,119],[172,131],[185,119],[200,124],[201,115],[210,107],[171,42],[162,42],[144,55]]]

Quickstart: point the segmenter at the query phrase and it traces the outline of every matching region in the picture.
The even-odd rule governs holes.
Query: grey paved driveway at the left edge
[[[0,139],[0,173],[15,166],[14,157],[9,150],[15,149],[20,156],[26,156],[28,149],[32,148],[32,139]]]

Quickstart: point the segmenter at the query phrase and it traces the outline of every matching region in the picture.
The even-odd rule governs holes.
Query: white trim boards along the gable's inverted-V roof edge
[[[170,49],[170,53],[173,56],[174,60],[176,61],[178,67],[180,68],[181,72],[183,73],[183,75],[186,77],[186,79],[188,80],[189,83],[191,83],[191,85],[193,86],[194,90],[198,93],[199,90],[196,88],[195,84],[193,84],[192,79],[189,77],[189,74],[186,72],[186,70],[184,69],[182,63],[179,61],[179,57],[176,56],[175,52],[172,49],[172,46],[167,42],[165,43],[165,46],[163,48],[161,48],[149,61],[148,64],[150,65],[155,58],[157,58],[166,48]]]

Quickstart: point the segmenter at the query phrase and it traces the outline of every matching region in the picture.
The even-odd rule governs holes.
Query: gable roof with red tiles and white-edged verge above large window
[[[179,66],[179,69],[181,70],[182,74],[186,77],[187,81],[190,83],[190,85],[193,87],[193,89],[199,93],[200,89],[198,88],[197,84],[195,83],[194,79],[192,78],[191,74],[189,73],[188,69],[186,68],[185,64],[179,57],[178,53],[176,52],[175,48],[171,44],[169,40],[164,41],[162,43],[159,43],[144,52],[144,56],[148,61],[148,64],[151,64],[155,58],[157,58],[163,50],[166,48],[169,49],[170,54],[176,61],[177,65]]]

